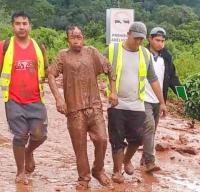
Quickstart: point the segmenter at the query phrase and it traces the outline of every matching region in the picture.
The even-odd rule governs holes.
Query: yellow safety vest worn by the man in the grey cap
[[[113,64],[113,57],[117,57],[117,60],[116,60],[116,65],[115,65],[115,73],[116,73],[116,90],[117,90],[117,93],[119,91],[119,86],[120,86],[120,79],[121,79],[121,73],[122,73],[122,42],[119,42],[118,45],[117,45],[117,56],[114,55],[114,44],[111,43],[109,45],[109,56],[108,56],[108,59],[109,59],[109,62],[111,64]],[[144,56],[144,51],[143,49],[145,49],[146,51],[146,54],[147,54],[147,57],[148,57],[148,61],[150,61],[150,52],[144,48],[144,47],[139,47],[139,99],[141,101],[144,101],[144,97],[145,97],[145,78],[147,76],[147,65],[146,65],[146,62],[147,59],[145,58]]]

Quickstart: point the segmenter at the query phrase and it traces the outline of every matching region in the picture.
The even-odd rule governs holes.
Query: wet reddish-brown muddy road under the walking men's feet
[[[28,176],[30,184],[16,185],[12,135],[6,123],[4,104],[0,98],[0,192],[75,191],[77,172],[66,119],[57,113],[48,86],[46,86],[46,106],[49,118],[48,140],[35,152],[36,170]],[[132,161],[135,173],[133,176],[125,175],[125,184],[114,185],[113,191],[200,192],[200,126],[169,115],[160,120],[156,144],[157,163],[162,170],[154,174],[146,174],[140,167],[141,150],[138,150]],[[88,155],[92,164],[93,145],[89,138]],[[110,145],[107,149],[105,169],[111,176]],[[102,188],[95,179],[92,179],[88,191],[109,190]]]

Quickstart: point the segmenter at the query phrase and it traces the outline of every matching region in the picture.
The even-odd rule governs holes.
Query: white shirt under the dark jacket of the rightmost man
[[[158,56],[156,61],[154,60],[153,55],[151,54],[153,66],[155,73],[158,77],[158,81],[160,83],[161,90],[163,89],[163,81],[164,81],[164,73],[165,73],[165,64],[162,57]],[[154,94],[151,85],[147,80],[145,80],[145,101],[149,103],[159,103],[156,95]]]

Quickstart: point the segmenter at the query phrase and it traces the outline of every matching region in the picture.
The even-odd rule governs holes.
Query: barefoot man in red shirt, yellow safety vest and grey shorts
[[[47,113],[43,103],[45,49],[41,50],[30,38],[31,23],[26,13],[13,14],[12,29],[14,36],[0,42],[0,83],[7,121],[14,135],[15,181],[28,184],[25,172],[35,169],[33,151],[47,138]]]

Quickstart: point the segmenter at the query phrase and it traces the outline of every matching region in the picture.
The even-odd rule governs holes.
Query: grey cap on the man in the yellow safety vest
[[[147,35],[146,25],[138,21],[131,24],[131,26],[129,27],[129,31],[132,32],[135,38],[137,37],[146,38]]]

